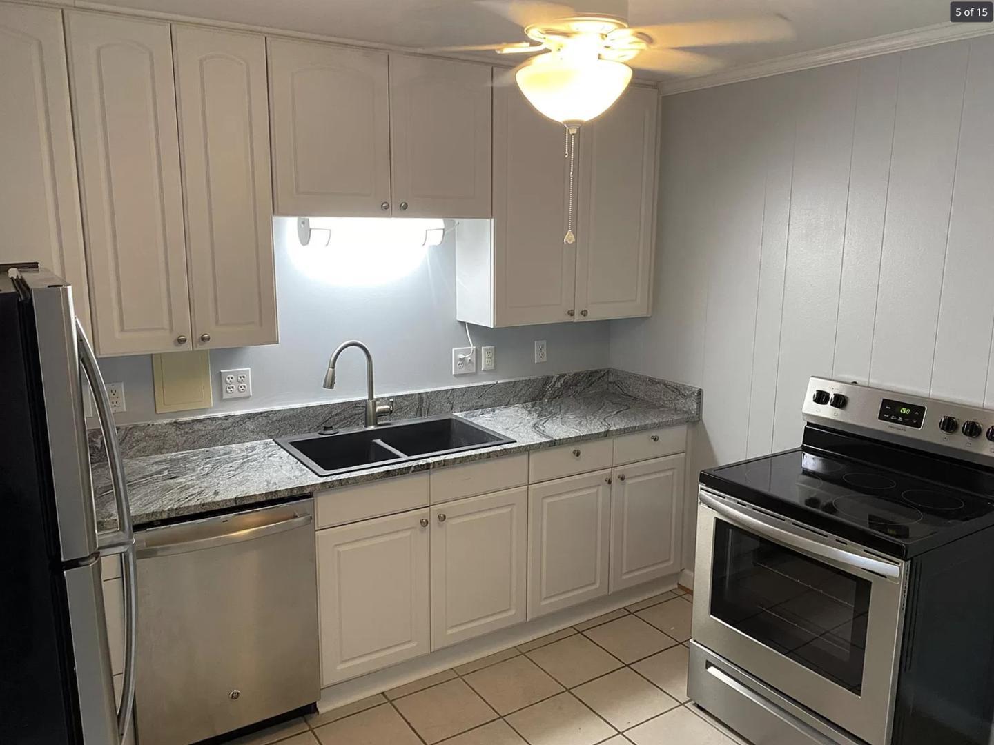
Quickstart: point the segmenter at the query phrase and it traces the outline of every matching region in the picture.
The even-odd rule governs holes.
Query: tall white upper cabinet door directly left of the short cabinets
[[[265,40],[173,29],[193,343],[276,342]]]

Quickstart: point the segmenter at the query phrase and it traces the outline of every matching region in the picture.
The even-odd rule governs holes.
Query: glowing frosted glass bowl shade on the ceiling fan
[[[515,79],[541,113],[564,124],[581,124],[610,108],[628,86],[631,68],[597,58],[575,62],[549,53],[529,60]]]

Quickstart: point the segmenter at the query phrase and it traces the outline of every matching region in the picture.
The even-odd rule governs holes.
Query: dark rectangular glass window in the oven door
[[[859,694],[870,582],[715,521],[711,615]]]

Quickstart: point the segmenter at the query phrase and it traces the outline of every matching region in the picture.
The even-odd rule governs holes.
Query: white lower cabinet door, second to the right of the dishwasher
[[[526,618],[528,488],[431,509],[431,649]]]

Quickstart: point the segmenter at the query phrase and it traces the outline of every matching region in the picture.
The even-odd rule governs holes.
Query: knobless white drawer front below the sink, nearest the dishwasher
[[[427,472],[314,495],[315,527],[344,525],[428,506]]]

